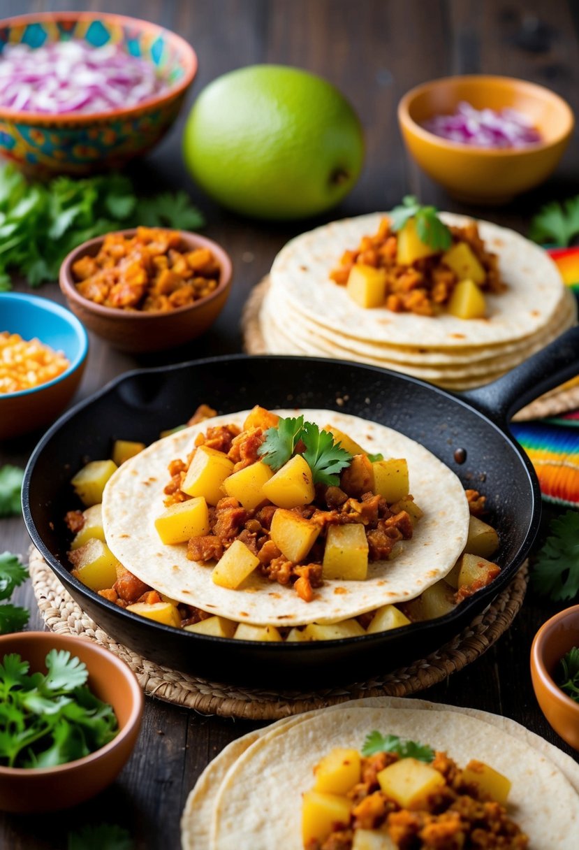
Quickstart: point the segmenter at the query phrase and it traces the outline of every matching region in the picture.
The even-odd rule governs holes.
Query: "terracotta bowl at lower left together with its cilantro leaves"
[[[131,755],[143,692],[97,643],[50,632],[0,638],[0,808],[49,812],[98,794]]]

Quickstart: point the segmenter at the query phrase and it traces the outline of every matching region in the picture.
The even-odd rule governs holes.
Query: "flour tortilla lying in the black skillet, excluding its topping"
[[[248,411],[216,416],[172,434],[122,464],[104,490],[106,541],[121,564],[142,581],[179,602],[239,622],[299,626],[355,617],[388,603],[414,598],[447,575],[464,549],[469,507],[458,477],[424,446],[391,428],[335,411],[304,413],[320,428],[334,425],[364,448],[408,461],[410,492],[424,511],[410,541],[398,544],[396,558],[369,564],[366,581],[325,581],[310,603],[289,587],[251,575],[238,590],[211,581],[211,565],[187,558],[186,544],[164,546],[155,519],[164,510],[167,465],[185,458],[198,433],[211,425],[241,425]]]

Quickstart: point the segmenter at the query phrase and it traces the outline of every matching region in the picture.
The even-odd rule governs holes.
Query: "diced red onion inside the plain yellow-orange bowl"
[[[464,101],[453,115],[433,116],[422,126],[442,139],[479,148],[522,148],[542,141],[541,134],[520,112],[476,110]]]

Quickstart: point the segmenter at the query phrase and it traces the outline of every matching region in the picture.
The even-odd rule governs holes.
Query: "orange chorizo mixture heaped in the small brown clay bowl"
[[[177,231],[139,227],[134,236],[105,236],[98,254],[76,260],[72,274],[78,292],[94,303],[166,312],[214,292],[220,266],[209,248],[184,248]]]

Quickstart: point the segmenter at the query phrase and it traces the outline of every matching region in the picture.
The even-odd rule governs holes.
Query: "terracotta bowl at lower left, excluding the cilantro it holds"
[[[131,755],[143,715],[143,691],[124,661],[98,643],[52,632],[17,632],[0,638],[0,660],[17,653],[30,672],[46,672],[50,649],[68,649],[87,665],[88,687],[110,703],[119,733],[109,744],[54,768],[0,767],[0,809],[7,812],[52,812],[70,808],[103,791]]]

